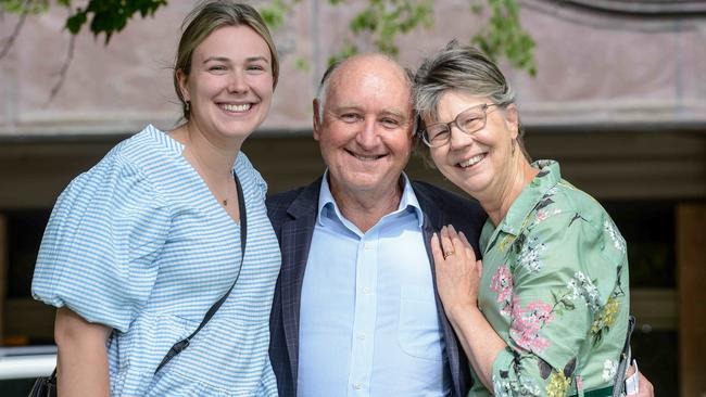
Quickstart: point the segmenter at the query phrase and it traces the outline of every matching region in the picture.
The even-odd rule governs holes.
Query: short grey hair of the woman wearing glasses
[[[415,110],[421,120],[438,118],[439,102],[447,91],[487,97],[503,108],[515,103],[515,91],[497,65],[477,48],[459,44],[456,40],[427,57],[417,71],[413,95]],[[517,132],[517,143],[529,161],[519,116]]]

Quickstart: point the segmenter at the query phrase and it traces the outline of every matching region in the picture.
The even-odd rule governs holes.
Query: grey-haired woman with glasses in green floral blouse
[[[477,380],[470,395],[610,396],[629,293],[626,242],[608,214],[558,163],[530,164],[514,93],[475,48],[452,42],[426,60],[415,104],[437,168],[489,217],[482,267],[453,227],[431,242]]]

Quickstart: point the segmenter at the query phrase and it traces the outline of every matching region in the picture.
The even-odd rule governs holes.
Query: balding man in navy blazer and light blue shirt
[[[486,215],[407,180],[413,133],[411,79],[394,61],[357,55],[327,71],[314,138],[328,169],[267,201],[282,252],[270,316],[280,396],[465,396],[470,387],[429,242],[444,225],[477,242]]]

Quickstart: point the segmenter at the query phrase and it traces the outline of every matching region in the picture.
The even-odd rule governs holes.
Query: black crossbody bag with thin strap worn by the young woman
[[[240,181],[238,180],[238,177],[234,175],[234,178],[236,179],[236,188],[238,188],[238,206],[240,208],[240,249],[241,249],[241,257],[240,257],[240,270],[242,270],[242,266],[244,264],[245,259],[245,244],[247,244],[247,238],[248,238],[248,214],[245,214],[245,198],[242,193],[242,188],[240,187]],[[240,272],[238,272],[238,276],[236,276],[236,280],[232,282],[230,285],[230,289],[228,289],[228,292],[226,292],[220,299],[218,299],[211,308],[209,311],[206,311],[205,316],[203,317],[203,320],[201,321],[201,324],[199,324],[199,328],[197,328],[191,335],[187,336],[185,340],[179,341],[172,346],[169,351],[167,351],[166,356],[162,359],[162,362],[157,366],[156,370],[154,370],[154,373],[160,372],[162,367],[166,366],[167,362],[169,362],[174,357],[176,357],[179,353],[181,353],[184,349],[189,347],[190,341],[196,336],[196,334],[201,331],[201,329],[211,320],[213,315],[218,311],[218,308],[220,308],[220,305],[223,305],[224,302],[226,302],[226,298],[228,298],[228,295],[230,295],[230,292],[232,291],[234,286],[236,286],[236,283],[238,282],[238,279],[240,278]],[[56,369],[51,373],[49,376],[39,376],[35,381],[35,385],[31,387],[31,390],[29,392],[28,397],[56,397]]]

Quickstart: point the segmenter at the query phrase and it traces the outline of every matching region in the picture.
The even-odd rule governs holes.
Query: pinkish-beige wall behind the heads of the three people
[[[0,135],[127,133],[176,120],[168,66],[179,23],[192,1],[172,0],[155,17],[134,20],[109,47],[84,31],[65,85],[47,99],[66,55],[63,9],[30,17],[0,62]],[[255,2],[255,5],[262,2]],[[589,12],[567,2],[524,0],[522,23],[535,38],[539,74],[504,67],[530,127],[706,124],[706,16],[635,18]],[[360,4],[360,3],[358,3]],[[267,132],[310,128],[315,81],[348,34],[356,5],[303,0],[276,33],[282,76]],[[452,38],[468,38],[481,18],[468,2],[436,2],[436,28],[400,40],[401,61],[420,59]],[[5,15],[0,37],[16,17]],[[299,57],[310,71],[294,68]]]

